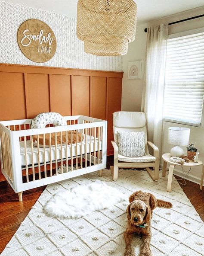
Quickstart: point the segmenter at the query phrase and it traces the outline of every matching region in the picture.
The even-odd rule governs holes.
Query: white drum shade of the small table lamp
[[[186,146],[189,144],[190,128],[169,127],[168,143],[177,146]]]

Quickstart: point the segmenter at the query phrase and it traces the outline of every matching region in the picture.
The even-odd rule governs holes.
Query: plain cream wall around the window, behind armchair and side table
[[[142,59],[142,73],[144,73],[144,61],[145,61],[145,48],[146,48],[146,33],[144,32],[145,27],[156,26],[161,23],[170,23],[181,19],[186,19],[193,16],[198,16],[204,13],[204,7],[189,10],[187,12],[178,13],[172,16],[165,17],[150,22],[149,24],[142,24],[137,27],[136,40],[129,45],[128,54],[124,56],[124,79],[123,79],[123,93],[122,93],[122,110],[124,111],[140,111],[141,96],[143,77],[139,80],[128,80],[127,79],[127,63],[128,61]],[[169,34],[174,34],[182,31],[191,29],[198,29],[204,27],[204,18],[193,19],[175,25],[169,26]],[[191,128],[190,143],[195,144],[198,148],[200,155],[199,158],[204,162],[204,110],[202,115],[201,127],[187,126]],[[176,123],[164,122],[163,126],[163,141],[162,141],[162,154],[170,151],[171,145],[167,144],[167,132],[170,126],[186,126]],[[183,147],[186,152],[186,148]],[[175,168],[176,170],[176,168]],[[185,169],[186,170],[186,169]],[[177,168],[177,175],[182,176],[182,170]],[[201,167],[192,168],[189,176],[189,180],[200,183]]]

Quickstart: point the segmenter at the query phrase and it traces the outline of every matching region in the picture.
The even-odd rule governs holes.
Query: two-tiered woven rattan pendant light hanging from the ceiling
[[[127,53],[136,33],[137,6],[133,0],[78,0],[77,37],[84,51],[100,56]]]

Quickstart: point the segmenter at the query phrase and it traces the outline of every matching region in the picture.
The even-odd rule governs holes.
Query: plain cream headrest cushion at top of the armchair
[[[122,128],[141,128],[146,125],[146,116],[144,112],[114,112],[113,125]]]

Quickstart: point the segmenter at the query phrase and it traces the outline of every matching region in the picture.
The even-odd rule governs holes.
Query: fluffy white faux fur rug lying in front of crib
[[[96,180],[90,184],[79,185],[59,192],[44,207],[49,216],[59,218],[80,218],[108,208],[127,199],[127,196],[105,182]]]

